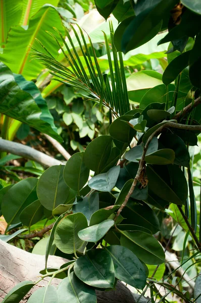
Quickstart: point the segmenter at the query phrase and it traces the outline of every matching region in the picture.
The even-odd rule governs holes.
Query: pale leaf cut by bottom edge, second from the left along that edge
[[[58,303],[57,290],[53,285],[47,285],[34,291],[27,303]]]

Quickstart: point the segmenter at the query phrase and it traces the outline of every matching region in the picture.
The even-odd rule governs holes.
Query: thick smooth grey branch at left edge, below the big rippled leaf
[[[23,145],[21,143],[12,142],[9,140],[0,139],[0,150],[7,151],[17,156],[22,156],[23,158],[36,161],[44,166],[51,167],[53,165],[64,164],[59,160],[49,157],[41,151],[38,151],[32,147]]]

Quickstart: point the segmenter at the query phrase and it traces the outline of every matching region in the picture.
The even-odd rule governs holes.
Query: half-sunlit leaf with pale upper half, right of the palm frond
[[[140,103],[143,95],[152,87],[163,84],[162,75],[156,71],[144,70],[126,79],[129,99]]]

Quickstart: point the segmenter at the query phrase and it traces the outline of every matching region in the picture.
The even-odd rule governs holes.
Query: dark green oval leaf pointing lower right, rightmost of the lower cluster
[[[121,231],[121,245],[127,247],[145,264],[158,265],[165,262],[165,254],[154,236],[143,231]]]

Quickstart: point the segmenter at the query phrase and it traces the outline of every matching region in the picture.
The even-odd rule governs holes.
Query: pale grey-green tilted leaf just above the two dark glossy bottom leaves
[[[93,226],[89,226],[85,229],[80,230],[78,232],[78,236],[83,241],[96,243],[105,236],[110,228],[114,226],[114,224],[114,220],[105,220],[99,224],[95,224]]]

